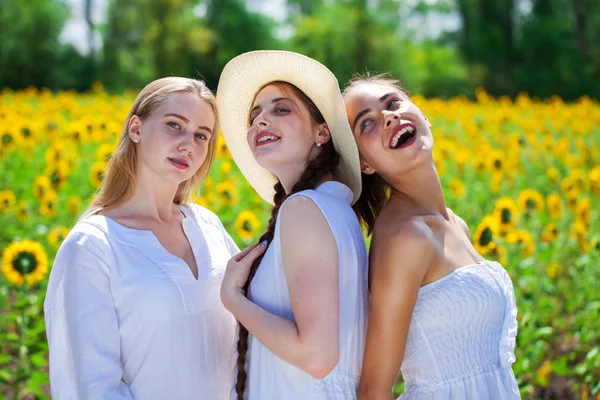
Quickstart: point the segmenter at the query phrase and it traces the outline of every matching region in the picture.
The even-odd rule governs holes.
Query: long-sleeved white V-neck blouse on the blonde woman
[[[96,215],[67,236],[44,303],[53,399],[229,397],[235,320],[219,292],[238,248],[215,214],[180,208],[198,280],[151,231]]]

